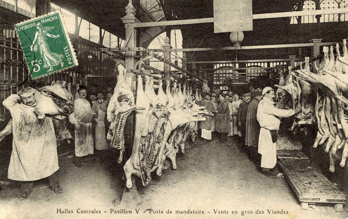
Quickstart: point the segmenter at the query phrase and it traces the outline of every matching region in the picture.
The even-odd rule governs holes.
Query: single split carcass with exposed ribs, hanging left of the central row
[[[144,110],[144,108],[134,105],[134,94],[126,81],[126,68],[119,64],[117,70],[119,73],[117,83],[107,109],[107,118],[111,123],[107,139],[110,140],[112,148],[120,150],[117,162],[121,163],[125,150],[126,119],[133,110]]]

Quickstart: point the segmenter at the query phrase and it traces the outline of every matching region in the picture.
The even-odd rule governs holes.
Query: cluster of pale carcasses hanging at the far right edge
[[[347,55],[346,40],[343,40],[343,57],[340,56],[339,45],[336,44],[337,57],[334,59],[333,47],[330,47],[330,58],[326,56],[327,48],[324,48],[324,60],[318,74],[308,70],[297,70],[296,77],[309,82],[316,87],[317,101],[315,106],[318,133],[314,146],[323,144],[327,139],[325,151],[330,151],[330,171],[334,171],[334,163],[341,158],[340,166],[345,166],[348,155],[348,125],[345,110],[347,109],[348,75],[345,69],[345,55]],[[324,63],[324,64],[323,64]],[[327,63],[327,65],[326,65]],[[344,104],[343,104],[344,103]],[[344,146],[344,148],[343,148]],[[331,148],[331,150],[330,150]],[[343,151],[342,151],[343,148]],[[340,155],[340,153],[342,153]]]

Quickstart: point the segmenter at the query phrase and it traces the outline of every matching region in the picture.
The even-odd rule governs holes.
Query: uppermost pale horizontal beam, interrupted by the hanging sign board
[[[310,16],[310,15],[326,15],[326,14],[344,14],[344,13],[348,13],[348,8],[256,14],[256,15],[253,15],[253,19],[296,17],[296,16]],[[129,24],[129,26],[136,28],[136,27],[183,25],[183,24],[201,24],[201,23],[213,23],[213,22],[214,22],[214,18],[209,17],[209,18],[198,18],[198,19],[168,20],[168,21],[159,21],[159,22],[134,23],[134,24]]]

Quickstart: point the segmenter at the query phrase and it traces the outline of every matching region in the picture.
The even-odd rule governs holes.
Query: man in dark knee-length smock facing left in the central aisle
[[[217,107],[216,112],[216,126],[215,130],[219,134],[218,144],[222,144],[227,139],[227,134],[230,132],[230,109],[228,106],[228,99],[225,99],[225,96],[220,93],[219,94],[220,104]]]

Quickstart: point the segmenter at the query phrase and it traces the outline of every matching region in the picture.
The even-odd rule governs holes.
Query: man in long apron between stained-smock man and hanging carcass
[[[95,149],[96,150],[106,150],[109,148],[106,144],[106,135],[105,135],[105,123],[104,117],[106,113],[106,108],[108,102],[104,101],[104,95],[102,93],[97,94],[97,101],[92,106],[92,111],[96,113],[97,118],[95,119]]]

